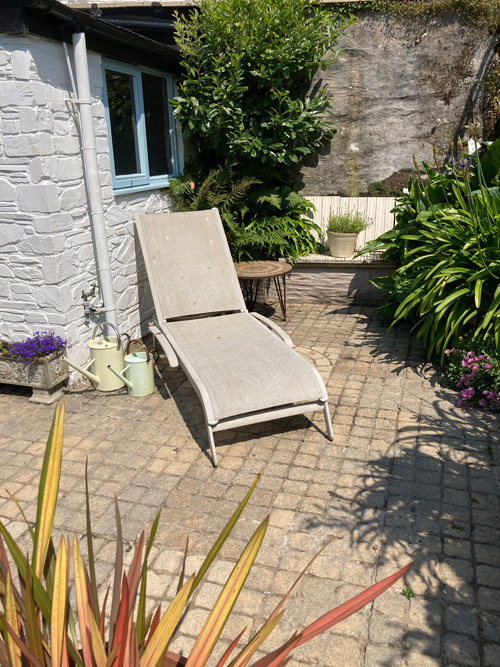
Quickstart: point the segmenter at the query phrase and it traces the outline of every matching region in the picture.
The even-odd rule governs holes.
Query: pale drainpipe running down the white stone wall
[[[87,44],[83,32],[73,33],[73,53],[75,57],[75,74],[78,98],[75,102],[80,109],[80,133],[82,140],[83,165],[87,185],[90,220],[94,232],[96,249],[97,274],[106,319],[118,327],[116,314],[113,277],[109,260],[108,239],[106,234],[106,219],[102,201],[99,163],[94,132],[94,114],[92,112],[92,97],[90,95],[89,68],[87,60]]]

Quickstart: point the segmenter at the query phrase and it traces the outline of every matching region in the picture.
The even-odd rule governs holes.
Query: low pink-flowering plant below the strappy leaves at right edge
[[[458,407],[470,403],[496,412],[500,407],[500,354],[494,341],[464,337],[459,347],[444,353],[447,375],[460,392]]]

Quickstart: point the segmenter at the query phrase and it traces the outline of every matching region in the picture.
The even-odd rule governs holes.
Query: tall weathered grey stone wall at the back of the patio
[[[337,133],[305,160],[305,196],[366,194],[370,183],[412,169],[413,155],[432,165],[434,141],[442,163],[450,138],[467,138],[473,117],[482,122],[483,84],[498,59],[498,37],[450,13],[421,20],[356,15],[339,42],[339,60],[312,82],[313,90],[328,85],[333,93]]]

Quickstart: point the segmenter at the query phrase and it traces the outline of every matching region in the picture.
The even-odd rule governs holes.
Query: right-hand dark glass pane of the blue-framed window
[[[171,174],[173,169],[169,138],[167,82],[161,76],[143,74],[142,92],[146,116],[149,173],[151,176]]]

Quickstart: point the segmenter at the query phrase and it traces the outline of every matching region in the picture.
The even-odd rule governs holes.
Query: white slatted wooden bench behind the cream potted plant
[[[326,227],[328,225],[328,218],[331,213],[345,213],[352,211],[360,213],[373,224],[358,236],[356,243],[356,252],[364,247],[367,241],[376,239],[377,236],[392,229],[395,224],[394,213],[391,209],[395,206],[395,200],[392,197],[307,197],[314,206],[316,212],[312,218],[314,222],[323,230],[322,241],[328,245],[326,238]],[[299,258],[299,262],[311,261],[314,258],[316,263],[371,263],[381,261],[380,253],[367,253],[357,259],[351,257],[347,258],[333,258],[329,255],[309,255],[309,257]]]

